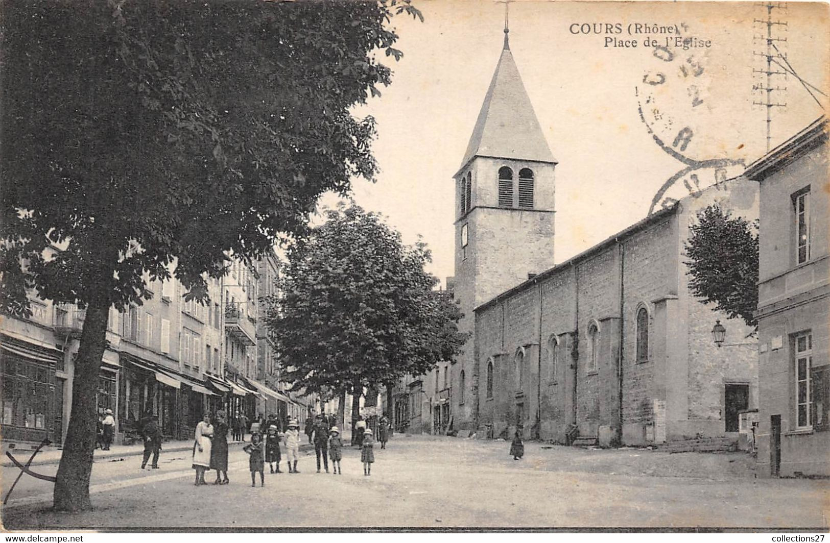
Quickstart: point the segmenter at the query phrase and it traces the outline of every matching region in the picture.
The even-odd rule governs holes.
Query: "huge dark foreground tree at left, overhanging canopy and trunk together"
[[[302,235],[322,192],[374,179],[374,120],[351,109],[389,84],[374,51],[400,56],[400,12],[420,17],[406,0],[4,2],[0,308],[25,315],[34,289],[86,311],[57,509],[91,507],[110,307],[173,263],[204,301],[227,255]]]

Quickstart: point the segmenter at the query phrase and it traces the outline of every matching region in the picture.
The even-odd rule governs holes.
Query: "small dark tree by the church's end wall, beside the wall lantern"
[[[689,287],[714,303],[715,311],[756,327],[758,308],[758,224],[731,216],[718,205],[697,214],[686,241]]]

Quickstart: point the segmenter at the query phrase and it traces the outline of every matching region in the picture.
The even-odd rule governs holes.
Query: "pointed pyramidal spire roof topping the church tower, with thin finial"
[[[556,162],[510,52],[506,5],[505,46],[459,169],[475,157]]]

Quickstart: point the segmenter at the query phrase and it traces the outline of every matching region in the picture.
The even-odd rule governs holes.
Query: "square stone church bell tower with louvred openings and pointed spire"
[[[474,332],[473,309],[554,265],[554,169],[508,41],[456,172],[454,296]],[[457,429],[476,431],[475,337],[453,365]],[[465,399],[469,399],[466,400]],[[473,401],[471,401],[473,400]]]

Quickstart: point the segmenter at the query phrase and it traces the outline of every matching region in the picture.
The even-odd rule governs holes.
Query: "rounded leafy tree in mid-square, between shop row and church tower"
[[[422,242],[403,245],[377,214],[354,204],[326,221],[288,253],[268,315],[287,381],[313,392],[354,395],[421,375],[461,350],[458,304],[433,288]]]

